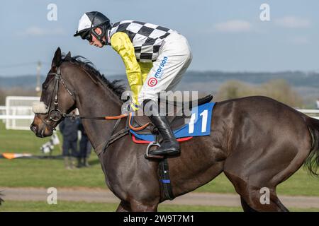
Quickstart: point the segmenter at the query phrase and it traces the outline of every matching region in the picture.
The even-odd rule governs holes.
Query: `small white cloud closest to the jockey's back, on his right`
[[[214,30],[219,32],[248,32],[252,30],[252,25],[245,20],[228,20],[226,22],[216,23]]]

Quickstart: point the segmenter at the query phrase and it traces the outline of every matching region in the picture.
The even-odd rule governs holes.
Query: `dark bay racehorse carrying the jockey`
[[[60,81],[55,79],[57,73]],[[56,89],[57,83],[60,88]],[[52,97],[55,90],[58,99]],[[40,100],[49,112],[35,114],[30,129],[38,137],[52,135],[60,122],[59,117],[49,120],[55,100],[62,113],[77,107],[84,115],[119,115],[122,92],[118,83],[107,81],[79,57],[67,54],[62,58],[58,48]],[[115,123],[83,119],[96,150],[106,142]],[[124,126],[125,120],[120,124]],[[193,191],[224,172],[245,211],[286,211],[276,195],[276,186],[303,164],[318,176],[318,141],[318,120],[269,97],[218,102],[213,109],[211,136],[181,143],[181,155],[168,159],[174,196]],[[106,184],[121,199],[118,211],[156,211],[164,201],[157,177],[158,162],[145,159],[145,148],[133,143],[130,136],[123,136],[99,155]],[[264,187],[269,189],[266,204],[260,201]]]

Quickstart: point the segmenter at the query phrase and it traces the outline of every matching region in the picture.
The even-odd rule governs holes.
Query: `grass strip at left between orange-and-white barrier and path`
[[[93,160],[94,161],[94,160]],[[67,170],[62,160],[0,160],[1,186],[103,187],[99,164],[90,168]]]

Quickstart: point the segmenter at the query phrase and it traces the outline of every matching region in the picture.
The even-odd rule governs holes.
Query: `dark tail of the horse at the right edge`
[[[319,177],[319,120],[308,117],[308,129],[311,134],[312,145],[304,166],[310,174]]]

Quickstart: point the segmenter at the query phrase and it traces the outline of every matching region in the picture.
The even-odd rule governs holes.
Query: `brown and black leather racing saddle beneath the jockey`
[[[169,114],[172,112],[166,112],[168,114],[167,120],[169,121],[169,125],[171,126],[172,130],[176,130],[181,128],[181,126],[184,126],[186,119],[189,119],[191,117],[191,115],[185,114],[185,110],[191,110],[193,107],[204,105],[208,102],[211,102],[211,100],[213,100],[213,96],[206,95],[205,97],[201,97],[196,100],[191,100],[189,102],[171,102],[169,100],[165,100],[164,103],[159,102],[159,106],[166,105],[165,109],[169,109],[169,107],[167,106],[171,105],[170,109],[173,109],[174,112],[173,114]],[[134,116],[132,121],[130,121],[130,124],[133,127],[141,127],[145,124],[148,124],[148,126],[146,126],[145,129],[138,131],[139,134],[157,133],[156,127],[152,124],[150,118],[145,115]]]

